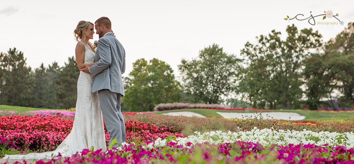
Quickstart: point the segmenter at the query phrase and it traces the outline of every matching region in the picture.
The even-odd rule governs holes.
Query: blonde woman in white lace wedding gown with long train
[[[94,25],[91,22],[80,21],[74,30],[76,45],[76,63],[85,68],[84,63],[92,66],[95,59],[95,50],[90,39],[93,39]],[[80,40],[80,41],[79,41]],[[69,157],[82,149],[102,149],[106,151],[105,134],[103,129],[103,117],[99,105],[98,93],[92,93],[91,74],[80,71],[78,79],[78,99],[76,101],[76,113],[73,128],[70,134],[57,147],[55,151],[44,153],[29,153],[27,155],[5,155],[4,159],[51,159],[59,153],[63,157]]]

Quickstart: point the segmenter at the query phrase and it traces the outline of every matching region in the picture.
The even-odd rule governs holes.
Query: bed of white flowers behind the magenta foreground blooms
[[[354,147],[353,132],[313,132],[304,129],[303,131],[295,130],[274,130],[274,129],[257,129],[254,127],[251,131],[238,132],[222,132],[211,131],[196,135],[181,138],[179,142],[192,143],[232,143],[236,141],[246,141],[260,143],[263,146],[269,147],[273,144],[286,146],[289,144],[315,144],[317,146],[346,146],[347,148]]]

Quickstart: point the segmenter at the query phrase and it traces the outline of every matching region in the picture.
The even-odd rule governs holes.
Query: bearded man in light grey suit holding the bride
[[[120,111],[121,97],[124,96],[122,73],[125,71],[125,50],[111,30],[112,23],[107,17],[95,22],[96,34],[100,38],[93,66],[86,64],[82,72],[93,75],[92,92],[98,91],[103,119],[109,133],[109,144],[117,139],[114,147],[125,142],[125,124]]]

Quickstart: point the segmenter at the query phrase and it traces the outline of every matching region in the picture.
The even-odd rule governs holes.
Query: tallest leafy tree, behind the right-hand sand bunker
[[[286,40],[272,30],[268,36],[257,37],[258,44],[245,44],[241,55],[246,68],[242,70],[239,93],[253,108],[300,108],[303,85],[302,61],[310,51],[321,46],[321,35],[312,28],[286,28]]]

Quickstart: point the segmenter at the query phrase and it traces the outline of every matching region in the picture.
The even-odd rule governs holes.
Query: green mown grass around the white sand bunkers
[[[306,121],[322,121],[322,120],[329,120],[332,118],[350,118],[354,117],[354,112],[325,112],[325,111],[304,111],[304,110],[275,110],[275,111],[223,111],[223,110],[213,110],[213,109],[179,109],[173,111],[161,111],[156,112],[155,114],[167,113],[167,112],[179,112],[179,111],[188,111],[188,112],[195,112],[206,117],[216,117],[222,118],[221,115],[217,114],[216,112],[238,112],[238,113],[256,113],[256,112],[293,112],[298,113],[306,118]]]

